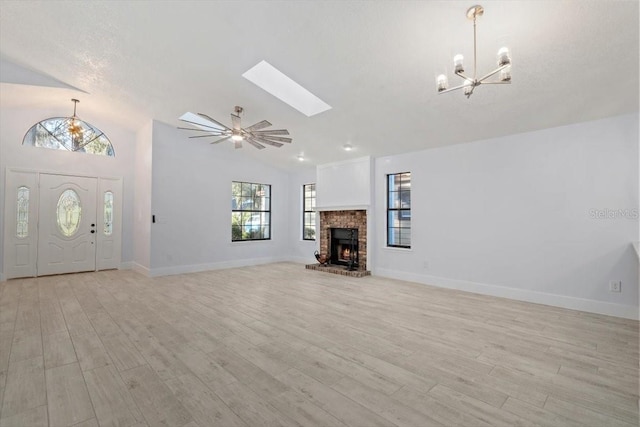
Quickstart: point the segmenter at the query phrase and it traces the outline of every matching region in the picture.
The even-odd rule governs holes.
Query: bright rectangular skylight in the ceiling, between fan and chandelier
[[[246,71],[242,77],[289,104],[307,117],[331,109],[329,104],[294,82],[267,61],[260,61],[253,68]]]

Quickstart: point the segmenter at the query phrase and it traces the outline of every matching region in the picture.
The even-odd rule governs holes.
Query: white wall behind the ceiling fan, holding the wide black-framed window
[[[288,174],[252,160],[231,144],[210,145],[153,124],[151,275],[287,259]],[[231,182],[271,184],[271,240],[231,242]]]

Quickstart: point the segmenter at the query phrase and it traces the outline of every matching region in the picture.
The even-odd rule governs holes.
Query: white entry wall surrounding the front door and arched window
[[[58,109],[3,108],[0,109],[0,219],[4,216],[4,186],[7,168],[19,168],[52,173],[89,176],[122,177],[124,189],[122,261],[133,259],[133,166],[135,135],[123,127],[83,115],[82,119],[103,131],[111,140],[116,157],[72,153],[23,146],[22,138],[35,123],[50,117],[59,117]],[[0,242],[4,241],[0,227]],[[0,259],[3,249],[0,244]],[[0,263],[2,264],[2,263]],[[0,266],[0,268],[2,268]],[[3,275],[0,274],[0,277]]]

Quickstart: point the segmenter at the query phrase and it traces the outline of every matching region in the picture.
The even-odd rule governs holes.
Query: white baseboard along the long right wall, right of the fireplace
[[[623,304],[614,304],[604,301],[589,300],[570,297],[566,295],[548,294],[525,289],[508,288],[506,286],[489,285],[486,283],[469,282],[466,280],[449,279],[446,277],[406,273],[389,269],[375,269],[372,272],[376,276],[390,279],[406,280],[424,285],[440,288],[457,289],[474,292],[477,294],[491,295],[501,298],[509,298],[518,301],[533,302],[536,304],[550,305],[554,307],[568,308],[571,310],[587,311],[589,313],[605,314],[607,316],[622,317],[625,319],[639,320],[638,307]]]

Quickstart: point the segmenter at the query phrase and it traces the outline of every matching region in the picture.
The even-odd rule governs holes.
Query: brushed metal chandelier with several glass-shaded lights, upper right
[[[484,8],[480,5],[472,6],[467,10],[467,18],[473,20],[473,76],[469,77],[465,74],[463,66],[464,58],[462,55],[458,54],[453,57],[453,66],[455,70],[454,72],[457,76],[461,77],[464,82],[459,86],[449,88],[449,81],[447,80],[447,76],[444,74],[440,74],[436,80],[438,93],[452,92],[454,90],[464,89],[464,94],[467,95],[467,98],[469,98],[473,94],[475,88],[480,86],[481,84],[498,85],[511,83],[511,58],[509,57],[509,49],[507,49],[506,47],[502,47],[500,48],[500,50],[498,50],[498,68],[478,78],[476,72],[476,18],[482,16],[483,13]],[[498,73],[500,73],[498,80],[487,81],[489,77],[492,77]]]

